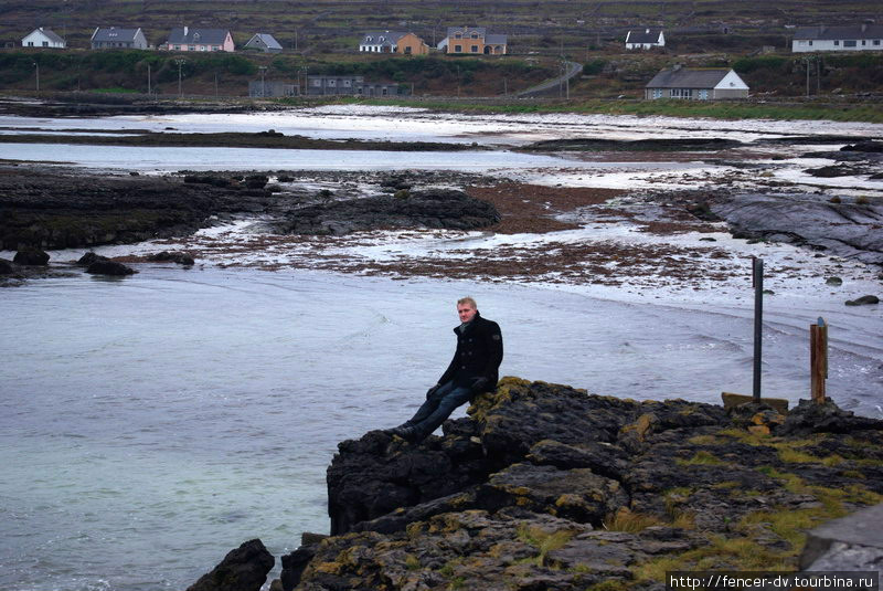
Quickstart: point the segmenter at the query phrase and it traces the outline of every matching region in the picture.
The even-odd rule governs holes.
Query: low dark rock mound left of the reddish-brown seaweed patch
[[[276,225],[285,234],[348,234],[363,230],[444,228],[474,230],[500,221],[497,209],[462,191],[413,191],[407,197],[377,196],[308,205]]]

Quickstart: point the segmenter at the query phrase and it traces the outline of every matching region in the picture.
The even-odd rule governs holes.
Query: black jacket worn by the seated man
[[[457,335],[457,350],[438,383],[454,380],[457,386],[471,387],[475,378],[483,377],[488,379],[488,383],[482,390],[488,392],[496,390],[500,380],[498,371],[503,360],[503,336],[500,326],[493,320],[482,318],[476,312],[464,334],[457,328],[454,329],[454,334]]]

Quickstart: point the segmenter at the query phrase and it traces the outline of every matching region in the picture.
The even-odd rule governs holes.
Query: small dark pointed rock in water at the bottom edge
[[[214,570],[203,574],[188,591],[260,591],[275,562],[260,540],[249,540],[231,550]]]

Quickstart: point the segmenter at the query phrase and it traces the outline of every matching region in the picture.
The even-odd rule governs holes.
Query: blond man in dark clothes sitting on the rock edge
[[[457,302],[460,326],[457,350],[438,383],[426,392],[426,402],[411,420],[386,432],[413,443],[425,440],[454,410],[479,392],[492,392],[499,380],[503,360],[503,336],[500,326],[478,313],[476,300],[464,297]]]

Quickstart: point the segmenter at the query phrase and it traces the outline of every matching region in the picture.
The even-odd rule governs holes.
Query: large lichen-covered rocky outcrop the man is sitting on
[[[277,584],[657,589],[666,570],[796,568],[808,527],[883,500],[883,421],[832,403],[783,420],[506,378],[444,433],[342,442],[336,535],[284,557]]]

